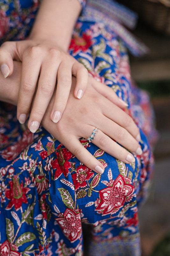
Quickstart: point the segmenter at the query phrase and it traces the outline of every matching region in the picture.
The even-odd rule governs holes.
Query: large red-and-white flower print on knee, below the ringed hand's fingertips
[[[99,191],[99,198],[95,202],[98,213],[103,216],[107,214],[114,214],[128,199],[127,197],[132,194],[134,187],[130,184],[126,184],[122,175],[118,175],[112,186],[108,186]]]

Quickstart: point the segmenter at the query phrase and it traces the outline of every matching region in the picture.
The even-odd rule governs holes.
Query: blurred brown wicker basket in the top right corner
[[[170,0],[125,0],[147,25],[170,36]]]

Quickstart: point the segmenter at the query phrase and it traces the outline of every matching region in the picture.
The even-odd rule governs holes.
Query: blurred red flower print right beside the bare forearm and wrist
[[[77,51],[85,52],[92,45],[91,36],[82,33],[82,36],[73,35],[70,43],[70,50],[73,50],[73,53]]]

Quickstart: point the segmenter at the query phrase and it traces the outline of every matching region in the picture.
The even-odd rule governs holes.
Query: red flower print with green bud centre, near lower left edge
[[[28,187],[23,187],[23,181],[19,184],[19,178],[14,175],[12,180],[9,181],[10,188],[5,189],[5,196],[10,199],[10,202],[5,209],[10,210],[14,205],[16,211],[21,207],[22,203],[28,203],[26,194],[30,190]]]

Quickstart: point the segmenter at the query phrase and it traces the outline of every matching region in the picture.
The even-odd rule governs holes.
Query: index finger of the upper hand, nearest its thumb
[[[18,94],[17,118],[21,124],[30,112],[35,88],[41,68],[41,55],[28,51],[23,57],[21,82]]]

